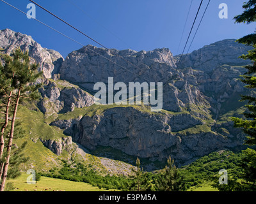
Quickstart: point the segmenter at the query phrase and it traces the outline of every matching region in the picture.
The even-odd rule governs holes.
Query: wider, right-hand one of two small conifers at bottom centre
[[[169,156],[167,165],[159,180],[157,180],[159,191],[181,191],[182,183],[179,171],[174,165],[174,160]]]

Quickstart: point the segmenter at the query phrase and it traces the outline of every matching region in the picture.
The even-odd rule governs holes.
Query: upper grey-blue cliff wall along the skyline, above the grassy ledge
[[[184,55],[177,69],[180,56],[173,57],[167,48],[136,52],[88,45],[68,55],[61,65],[60,78],[76,82],[92,94],[96,92],[93,85],[96,82],[108,84],[108,77],[113,77],[114,83],[163,82],[164,110],[180,112],[188,105],[212,106],[211,111],[218,115],[216,107],[220,106],[220,101],[244,90],[237,78],[244,72],[241,65],[250,61],[238,57],[246,54],[247,50],[250,47],[240,45],[235,40],[218,41]],[[207,96],[205,93],[209,92]]]

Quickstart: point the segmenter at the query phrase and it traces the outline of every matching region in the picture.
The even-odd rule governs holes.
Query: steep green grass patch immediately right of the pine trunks
[[[24,131],[24,138],[15,140],[15,143],[19,146],[20,143],[27,141],[24,154],[29,157],[26,163],[20,165],[20,169],[25,170],[26,166],[35,166],[36,171],[49,171],[53,166],[61,166],[60,159],[65,157],[65,153],[56,156],[40,142],[40,139],[56,140],[67,137],[63,135],[61,129],[49,126],[45,122],[44,114],[39,110],[29,110],[25,106],[20,106],[17,121]]]

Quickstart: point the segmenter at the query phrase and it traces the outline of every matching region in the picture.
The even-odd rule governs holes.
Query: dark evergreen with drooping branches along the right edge
[[[234,17],[236,23],[250,24],[256,22],[256,1],[250,0],[243,4],[244,11],[241,15]],[[241,96],[241,101],[248,101],[245,105],[247,110],[243,113],[245,119],[232,117],[234,121],[234,127],[242,128],[246,134],[246,145],[256,145],[256,33],[248,34],[243,38],[237,40],[238,43],[244,45],[250,45],[253,50],[248,51],[248,54],[241,55],[241,59],[250,59],[252,64],[245,66],[246,73],[242,76],[241,81],[246,84],[245,87],[250,90],[250,95]],[[243,179],[249,183],[243,182],[243,191],[250,191],[256,185],[255,172],[256,172],[256,151],[253,149],[247,149],[243,151],[243,159],[241,167],[244,170]],[[250,185],[253,184],[253,185]],[[235,185],[236,186],[236,185]],[[240,189],[241,190],[241,187]]]

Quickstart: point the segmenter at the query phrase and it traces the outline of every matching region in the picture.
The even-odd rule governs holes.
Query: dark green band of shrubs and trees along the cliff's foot
[[[182,191],[218,191],[216,186],[214,186],[214,178],[220,177],[218,172],[221,169],[227,170],[228,178],[241,180],[243,175],[243,170],[241,169],[242,159],[242,152],[234,153],[230,150],[222,150],[220,152],[212,152],[208,156],[201,157],[193,163],[176,170],[175,168],[170,168],[173,163],[169,162],[167,170],[176,172],[169,172],[170,175],[179,175],[179,177],[170,177],[170,180],[173,180],[173,184],[179,180],[177,183],[179,187],[173,189],[175,191],[179,191],[179,189]],[[139,170],[134,169],[135,175],[133,174],[131,177],[117,177],[115,175],[100,175],[96,171],[90,170],[89,166],[84,166],[83,164],[63,162],[63,168],[52,168],[49,173],[42,173],[42,175],[76,182],[87,182],[99,188],[104,187],[106,189],[119,189],[122,191],[138,190],[138,184],[140,184],[140,191],[163,191],[161,180],[166,182],[166,176],[168,177],[166,168],[147,172],[143,171],[139,166]]]

